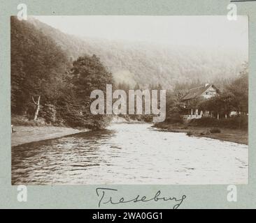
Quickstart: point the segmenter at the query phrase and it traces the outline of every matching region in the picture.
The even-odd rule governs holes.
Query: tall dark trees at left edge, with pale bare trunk
[[[37,119],[41,105],[51,97],[57,79],[69,66],[62,49],[26,21],[11,17],[11,95],[13,114]]]

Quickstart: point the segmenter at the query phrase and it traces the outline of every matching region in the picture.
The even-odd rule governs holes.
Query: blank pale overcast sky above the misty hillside
[[[248,17],[227,16],[34,16],[80,37],[162,45],[239,47],[248,50]]]

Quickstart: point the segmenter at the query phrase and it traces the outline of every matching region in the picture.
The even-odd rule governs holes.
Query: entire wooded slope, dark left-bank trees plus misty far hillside
[[[11,17],[12,114],[101,128],[108,118],[89,111],[94,89],[106,91],[106,84],[115,83],[125,90],[157,86],[184,93],[206,81],[225,89],[247,60],[235,49],[82,39],[34,18],[20,22]]]

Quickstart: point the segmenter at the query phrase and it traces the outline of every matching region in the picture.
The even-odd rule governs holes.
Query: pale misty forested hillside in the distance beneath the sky
[[[36,29],[54,39],[72,59],[83,54],[96,54],[113,73],[115,81],[131,85],[136,82],[144,87],[161,84],[164,89],[173,89],[177,84],[189,87],[214,82],[221,87],[227,79],[237,77],[241,64],[248,61],[248,56],[241,54],[239,49],[180,47],[175,46],[175,43],[166,47],[77,38],[33,18],[30,22],[36,24]]]

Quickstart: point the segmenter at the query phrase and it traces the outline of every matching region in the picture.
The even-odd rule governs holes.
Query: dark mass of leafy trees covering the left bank
[[[11,17],[12,122],[102,128],[106,116],[92,116],[90,93],[113,83],[99,57],[71,59],[51,36],[34,24]],[[15,119],[15,116],[19,115]],[[24,123],[20,121],[20,116]],[[32,121],[33,122],[33,121]]]

